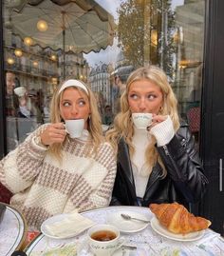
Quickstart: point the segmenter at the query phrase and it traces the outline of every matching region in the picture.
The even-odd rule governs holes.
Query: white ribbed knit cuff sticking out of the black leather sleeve
[[[149,132],[156,137],[158,147],[167,145],[175,135],[170,116],[168,115],[165,121],[151,128]]]

